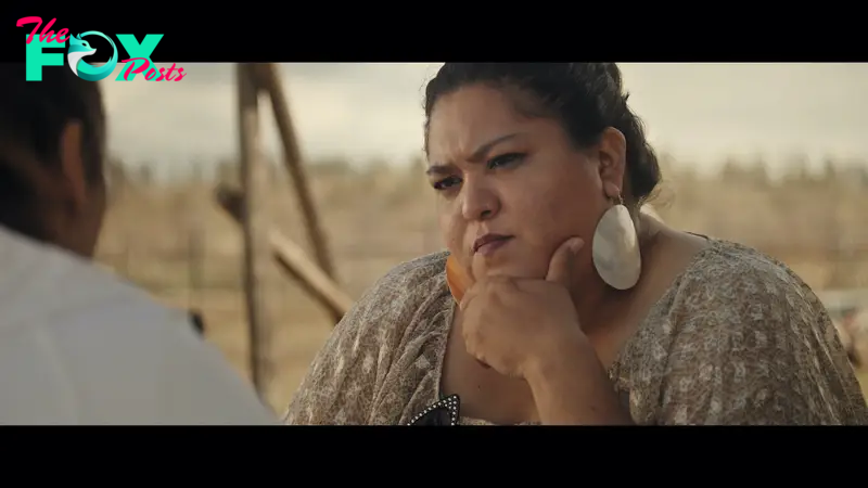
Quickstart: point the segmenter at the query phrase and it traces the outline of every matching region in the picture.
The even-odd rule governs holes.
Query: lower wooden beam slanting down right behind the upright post
[[[218,187],[217,203],[235,222],[240,222],[242,197],[241,192],[227,187]],[[341,318],[353,307],[354,300],[345,294],[340,285],[311,261],[297,244],[284,236],[278,229],[270,231],[270,244],[275,259],[290,275],[298,280],[329,312]]]

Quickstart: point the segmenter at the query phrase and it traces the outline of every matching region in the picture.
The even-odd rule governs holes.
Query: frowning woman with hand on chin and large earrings
[[[447,399],[460,424],[866,423],[792,271],[639,211],[660,168],[626,99],[614,64],[444,65],[425,151],[448,253],[374,284],[285,422],[424,423]]]

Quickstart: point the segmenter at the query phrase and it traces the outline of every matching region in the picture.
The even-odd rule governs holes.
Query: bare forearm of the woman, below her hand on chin
[[[633,425],[590,345],[548,358],[526,377],[544,425]]]

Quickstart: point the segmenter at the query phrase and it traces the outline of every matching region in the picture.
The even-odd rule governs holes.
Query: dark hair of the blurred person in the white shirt
[[[99,84],[66,66],[44,69],[41,81],[27,81],[23,63],[0,65],[0,224],[46,239],[38,215],[42,195],[33,175],[60,169],[61,136],[72,120],[82,126],[85,177],[102,182],[105,113]],[[38,167],[24,170],[23,164]]]

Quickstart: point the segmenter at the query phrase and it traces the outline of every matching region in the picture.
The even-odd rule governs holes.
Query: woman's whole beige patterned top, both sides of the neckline
[[[442,398],[456,306],[447,256],[399,265],[361,297],[314,360],[285,423],[406,424]],[[819,299],[783,264],[726,241],[694,257],[609,375],[638,424],[868,424]]]

